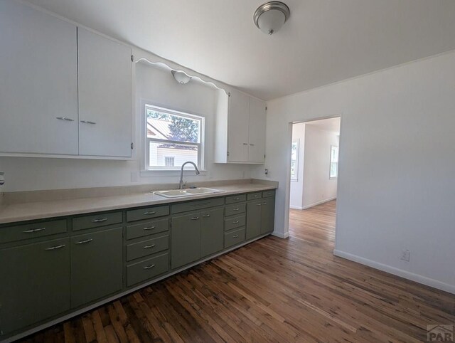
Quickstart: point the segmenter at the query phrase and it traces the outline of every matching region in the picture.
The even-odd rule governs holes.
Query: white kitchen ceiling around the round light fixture
[[[454,0],[29,0],[68,19],[269,100],[455,49]]]

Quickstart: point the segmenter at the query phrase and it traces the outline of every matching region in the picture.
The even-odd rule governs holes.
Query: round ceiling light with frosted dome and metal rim
[[[258,7],[253,20],[259,30],[272,35],[286,23],[289,13],[289,7],[286,4],[281,1],[270,1]]]

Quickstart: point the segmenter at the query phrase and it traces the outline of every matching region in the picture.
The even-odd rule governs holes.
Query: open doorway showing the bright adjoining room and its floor
[[[326,246],[335,242],[341,117],[292,123],[289,235]]]

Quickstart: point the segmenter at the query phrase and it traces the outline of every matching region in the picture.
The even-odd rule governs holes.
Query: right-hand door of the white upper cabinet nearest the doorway
[[[265,154],[265,102],[250,97],[248,162],[263,163]]]

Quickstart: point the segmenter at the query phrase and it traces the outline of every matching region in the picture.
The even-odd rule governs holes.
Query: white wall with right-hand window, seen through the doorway
[[[332,145],[338,147],[336,132],[305,126],[303,209],[336,198],[337,179],[328,177]]]

